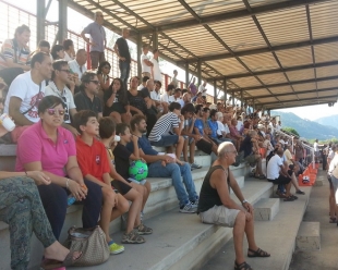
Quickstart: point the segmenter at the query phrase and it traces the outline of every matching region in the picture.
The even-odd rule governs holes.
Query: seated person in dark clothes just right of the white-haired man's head
[[[243,143],[241,144],[240,151],[244,152],[244,160],[251,165],[256,167],[256,171],[254,174],[255,179],[265,179],[265,175],[262,172],[262,157],[259,152],[254,150],[253,143],[256,137],[255,131],[250,131]]]

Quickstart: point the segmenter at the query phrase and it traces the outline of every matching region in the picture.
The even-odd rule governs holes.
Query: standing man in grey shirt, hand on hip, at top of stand
[[[99,63],[106,61],[105,47],[107,44],[106,32],[102,26],[104,14],[100,11],[95,12],[94,20],[81,33],[82,38],[90,45],[92,71],[96,70]],[[89,34],[90,38],[87,38],[85,34]]]

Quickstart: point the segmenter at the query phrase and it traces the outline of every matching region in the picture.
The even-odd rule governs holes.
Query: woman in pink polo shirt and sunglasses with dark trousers
[[[47,96],[38,105],[40,121],[29,126],[17,142],[16,171],[43,171],[50,185],[38,186],[53,235],[59,240],[65,219],[68,196],[83,202],[84,228],[97,225],[102,202],[99,185],[83,179],[76,160],[73,135],[61,125],[64,103]]]

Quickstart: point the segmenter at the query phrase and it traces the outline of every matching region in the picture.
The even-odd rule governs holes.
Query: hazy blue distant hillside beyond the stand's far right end
[[[301,119],[292,112],[271,111],[271,115],[280,115],[282,126],[293,127],[298,131],[301,137],[307,139],[330,139],[334,137],[338,137],[338,130],[333,127],[338,126],[337,124],[334,125],[333,123],[330,123],[329,126],[322,125],[314,121]]]

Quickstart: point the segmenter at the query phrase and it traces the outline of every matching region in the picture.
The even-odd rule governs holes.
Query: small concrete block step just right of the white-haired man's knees
[[[254,218],[256,221],[270,221],[279,211],[280,199],[263,198],[255,205]]]

